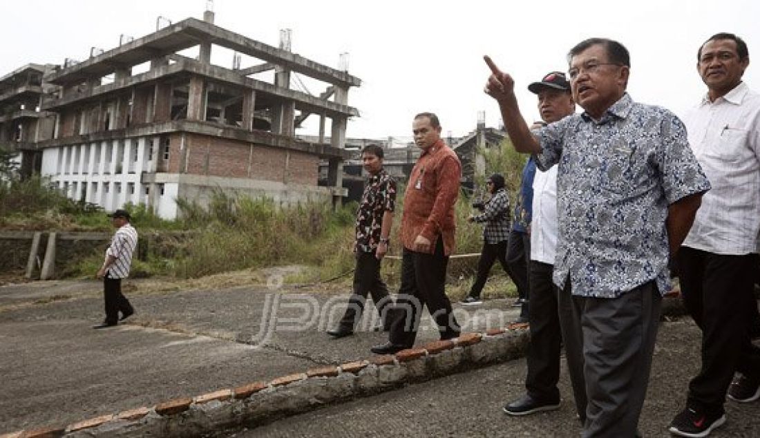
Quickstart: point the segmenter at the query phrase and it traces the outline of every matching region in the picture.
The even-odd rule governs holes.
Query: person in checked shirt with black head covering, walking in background
[[[476,204],[483,212],[470,215],[470,222],[486,224],[483,227],[483,250],[480,252],[480,262],[477,265],[477,278],[470,289],[470,294],[462,304],[480,304],[480,291],[486,285],[488,273],[493,262],[499,260],[504,271],[507,268],[507,239],[509,238],[509,198],[504,190],[504,176],[494,173],[486,180],[486,186],[491,198],[485,205]],[[482,208],[481,208],[482,207]]]

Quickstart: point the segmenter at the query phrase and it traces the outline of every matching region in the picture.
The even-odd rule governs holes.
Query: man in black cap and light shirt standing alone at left
[[[122,294],[122,278],[129,276],[129,268],[132,262],[132,252],[138,246],[138,232],[129,223],[129,212],[116,210],[109,214],[112,224],[116,228],[111,245],[106,249],[106,259],[103,266],[97,271],[97,278],[103,278],[103,297],[106,301],[106,319],[93,328],[112,327],[121,319],[127,319],[135,309],[129,300]]]

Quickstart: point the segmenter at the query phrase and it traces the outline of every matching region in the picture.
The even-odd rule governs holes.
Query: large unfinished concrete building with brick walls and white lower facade
[[[215,46],[261,60],[249,68],[211,64]],[[198,47],[198,59],[178,52]],[[43,176],[70,198],[120,208],[144,203],[177,217],[176,198],[203,204],[221,189],[280,204],[332,198],[342,188],[348,90],[359,78],[214,25],[188,18],[46,76],[59,87],[43,100],[53,138],[39,141]],[[239,58],[238,58],[239,59]],[[145,65],[149,63],[149,68]],[[238,61],[239,63],[239,61]],[[133,74],[133,69],[143,72]],[[250,78],[274,70],[274,81]],[[290,88],[297,72],[327,86],[321,96]],[[296,126],[320,119],[317,141]],[[331,132],[325,135],[326,121]],[[325,138],[330,138],[329,143]],[[318,186],[320,160],[330,163]]]

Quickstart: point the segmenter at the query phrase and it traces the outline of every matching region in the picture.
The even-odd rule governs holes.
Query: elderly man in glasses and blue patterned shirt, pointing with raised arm
[[[499,102],[515,149],[557,164],[559,238],[554,283],[568,366],[586,382],[583,436],[633,437],[651,370],[668,262],[710,183],[682,122],[625,92],[629,52],[593,38],[568,54],[573,100],[584,113],[532,134],[515,81],[486,57],[486,93]],[[572,338],[572,341],[570,341]],[[571,347],[572,346],[572,347]],[[571,376],[572,378],[572,376]]]

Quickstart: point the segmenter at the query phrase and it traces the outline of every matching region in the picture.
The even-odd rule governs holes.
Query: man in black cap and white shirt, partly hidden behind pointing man
[[[553,123],[575,113],[570,83],[565,74],[550,72],[528,87],[538,95],[538,110],[545,123]],[[538,170],[533,181],[533,216],[530,221],[530,293],[528,320],[530,347],[527,354],[525,395],[504,407],[509,415],[527,415],[559,408],[560,336],[558,294],[553,284],[557,246],[557,167]],[[578,414],[586,416],[583,370],[576,370],[572,382]],[[576,388],[577,386],[577,388]]]

